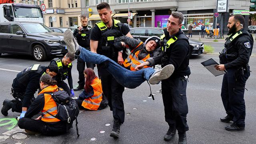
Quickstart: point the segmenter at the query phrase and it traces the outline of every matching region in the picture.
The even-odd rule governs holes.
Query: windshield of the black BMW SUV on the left
[[[28,33],[53,32],[50,28],[40,23],[22,24]]]

